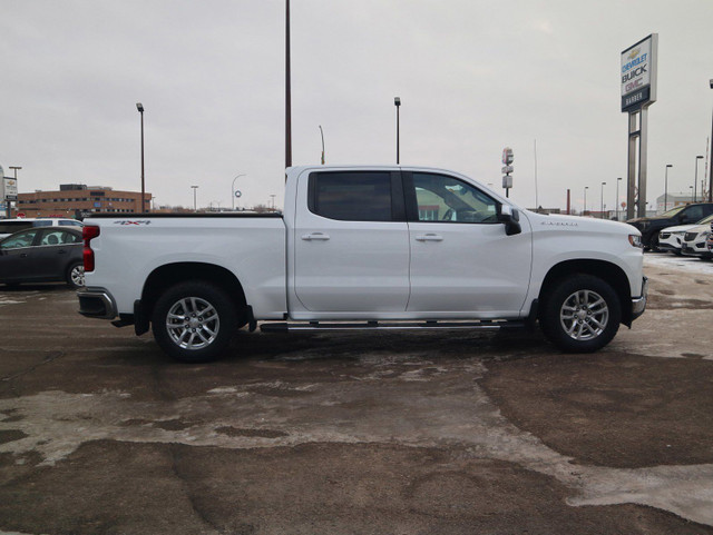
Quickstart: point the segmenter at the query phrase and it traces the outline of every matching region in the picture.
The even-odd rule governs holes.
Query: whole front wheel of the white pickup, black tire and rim
[[[551,286],[547,294],[540,327],[563,351],[596,351],[612,341],[619,329],[619,298],[598,277],[573,275]]]

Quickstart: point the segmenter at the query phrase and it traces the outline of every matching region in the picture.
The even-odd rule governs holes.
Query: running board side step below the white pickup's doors
[[[519,329],[526,327],[525,321],[482,320],[482,321],[363,321],[363,323],[265,323],[260,326],[263,333],[286,333],[297,330],[439,330],[439,329]]]

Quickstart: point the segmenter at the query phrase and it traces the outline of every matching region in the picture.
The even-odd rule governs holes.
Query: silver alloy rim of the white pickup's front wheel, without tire
[[[604,333],[609,320],[609,308],[599,294],[578,290],[559,309],[559,323],[575,340],[592,340]]]

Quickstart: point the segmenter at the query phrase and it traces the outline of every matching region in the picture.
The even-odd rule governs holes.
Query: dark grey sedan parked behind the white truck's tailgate
[[[45,227],[20,230],[0,240],[0,283],[64,280],[85,285],[81,230]]]

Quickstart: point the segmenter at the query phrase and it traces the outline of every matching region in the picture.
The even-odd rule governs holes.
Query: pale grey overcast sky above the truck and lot
[[[79,182],[157,204],[283,200],[284,0],[0,0],[0,165],[19,191]],[[511,197],[613,208],[626,175],[619,55],[660,36],[648,200],[688,191],[706,155],[712,0],[292,0],[293,164],[461,171]],[[704,172],[700,165],[700,177]],[[622,182],[623,184],[623,182]],[[621,190],[625,200],[624,188]]]

